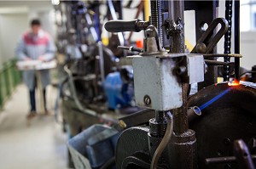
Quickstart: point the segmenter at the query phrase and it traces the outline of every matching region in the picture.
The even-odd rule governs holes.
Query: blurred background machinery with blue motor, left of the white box
[[[113,35],[108,46],[101,39],[102,20],[122,19],[120,4],[112,0],[62,1],[55,6],[58,54],[62,59],[55,116],[58,119],[61,103],[63,130],[69,138],[94,124],[116,125],[119,117],[141,110],[134,104],[132,67],[122,64],[124,51],[117,49],[125,44],[123,34]],[[102,6],[108,8],[106,14],[100,12]],[[92,131],[108,131],[96,128]],[[104,158],[108,160],[109,155]],[[102,165],[104,158],[90,165]],[[96,158],[90,155],[90,159]],[[72,163],[69,159],[69,166]]]

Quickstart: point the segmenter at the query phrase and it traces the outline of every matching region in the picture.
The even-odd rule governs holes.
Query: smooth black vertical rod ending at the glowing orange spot
[[[240,54],[240,1],[235,1],[235,54]],[[240,58],[235,58],[235,78],[240,79],[239,75]]]

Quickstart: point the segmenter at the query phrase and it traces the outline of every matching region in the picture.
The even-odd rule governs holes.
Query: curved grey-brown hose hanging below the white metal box
[[[162,139],[161,143],[157,147],[157,149],[154,152],[150,169],[156,169],[160,155],[162,155],[162,152],[164,149],[166,149],[166,145],[169,143],[171,137],[172,137],[172,131],[173,131],[173,117],[171,112],[167,112],[167,128],[164,138]]]

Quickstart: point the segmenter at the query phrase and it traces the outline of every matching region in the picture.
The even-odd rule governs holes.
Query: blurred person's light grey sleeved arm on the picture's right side
[[[45,54],[40,56],[38,59],[41,59],[43,61],[49,61],[51,59],[54,59],[56,52],[55,42],[49,37],[49,42],[46,46]]]

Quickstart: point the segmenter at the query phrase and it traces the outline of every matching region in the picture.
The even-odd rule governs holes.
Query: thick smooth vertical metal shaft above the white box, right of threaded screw
[[[171,21],[171,25],[181,25],[178,32],[172,34],[170,38],[170,53],[184,53],[185,45],[184,45],[184,3],[183,0],[171,0],[168,1],[169,5],[169,20]]]

